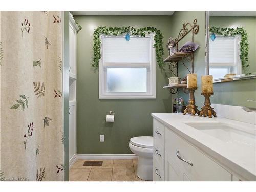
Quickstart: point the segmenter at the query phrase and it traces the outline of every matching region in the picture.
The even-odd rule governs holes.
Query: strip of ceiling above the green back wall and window
[[[174,11],[70,11],[73,15],[173,15]]]

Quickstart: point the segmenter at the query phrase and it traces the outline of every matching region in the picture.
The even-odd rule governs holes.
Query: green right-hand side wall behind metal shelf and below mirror
[[[200,27],[199,33],[195,35],[194,42],[199,44],[200,48],[196,51],[194,59],[194,73],[197,73],[198,90],[195,92],[196,105],[199,110],[204,103],[204,97],[201,95],[201,75],[205,75],[205,12],[178,11],[172,16],[171,36],[176,37],[185,22],[193,22],[197,18]],[[181,45],[190,40],[191,36],[185,37]],[[255,63],[254,63],[255,64]],[[184,77],[187,70],[179,63],[179,76]],[[179,90],[179,97],[188,101],[188,94]],[[216,104],[226,104],[235,106],[256,107],[255,102],[248,102],[247,99],[256,98],[256,78],[232,82],[222,82],[214,84],[214,95],[211,96],[211,102]]]

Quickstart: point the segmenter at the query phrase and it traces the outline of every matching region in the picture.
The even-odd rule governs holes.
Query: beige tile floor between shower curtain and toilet
[[[101,160],[102,166],[83,166],[84,161],[71,167],[70,181],[142,181],[136,175],[137,159]]]

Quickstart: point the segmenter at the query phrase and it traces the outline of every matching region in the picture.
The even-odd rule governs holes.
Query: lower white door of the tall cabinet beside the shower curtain
[[[69,160],[76,154],[76,104],[73,102],[69,106]]]

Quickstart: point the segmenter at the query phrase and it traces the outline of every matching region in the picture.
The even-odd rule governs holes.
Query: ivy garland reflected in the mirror
[[[248,64],[248,34],[246,33],[245,29],[243,27],[237,27],[237,29],[234,28],[220,28],[220,27],[211,27],[210,32],[217,35],[223,35],[223,36],[235,36],[235,35],[241,35],[241,41],[240,41],[240,59],[242,63],[242,67],[249,67]]]

